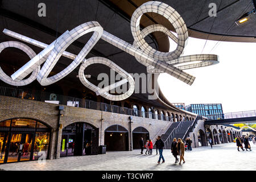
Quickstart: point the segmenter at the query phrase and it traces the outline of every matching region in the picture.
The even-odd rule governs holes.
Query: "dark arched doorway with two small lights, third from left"
[[[109,126],[105,130],[104,143],[107,151],[128,151],[128,131],[120,125]]]

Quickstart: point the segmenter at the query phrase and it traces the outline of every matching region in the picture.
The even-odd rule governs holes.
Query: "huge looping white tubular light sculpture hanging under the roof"
[[[139,27],[140,19],[144,13],[150,12],[160,14],[167,18],[169,22],[174,26],[177,37],[172,34],[170,30],[160,24],[148,26],[141,31]],[[174,42],[177,43],[176,49],[172,52],[160,52],[150,47],[144,40],[144,37],[154,31],[161,31],[172,40],[174,40]],[[73,53],[65,51],[65,49],[76,39],[87,34],[88,32],[93,32],[93,35],[78,55],[74,55]],[[182,71],[183,69],[205,67],[218,63],[217,55],[189,55],[180,57],[185,47],[185,41],[188,38],[187,27],[185,26],[184,20],[177,13],[177,11],[163,2],[149,1],[138,7],[138,9],[134,11],[131,17],[131,32],[134,37],[133,45],[125,42],[122,39],[117,38],[109,32],[104,31],[98,22],[93,21],[80,24],[76,28],[73,28],[71,31],[64,32],[64,34],[62,34],[54,42],[47,45],[39,42],[38,40],[34,40],[24,35],[20,35],[16,32],[5,29],[3,30],[4,34],[44,49],[38,55],[36,55],[30,47],[26,46],[23,43],[14,41],[0,43],[0,52],[7,47],[15,47],[26,52],[31,59],[30,61],[28,61],[28,63],[23,65],[22,68],[20,68],[13,75],[11,75],[11,77],[7,76],[0,68],[0,79],[7,84],[15,86],[30,84],[35,79],[37,79],[41,85],[50,85],[67,76],[82,63],[79,70],[79,78],[82,84],[96,92],[97,95],[100,94],[102,97],[105,97],[108,100],[124,100],[130,97],[131,94],[133,94],[134,92],[135,84],[133,77],[131,77],[131,75],[124,71],[122,68],[118,67],[118,65],[114,64],[112,61],[104,57],[92,57],[88,60],[85,59],[86,55],[88,55],[90,50],[94,47],[99,39],[103,39],[106,42],[112,44],[113,46],[122,49],[130,55],[133,55],[139,61],[139,63],[147,67],[147,72],[165,72],[189,85],[192,85],[195,77],[189,75],[188,73],[185,73],[184,71]],[[57,61],[60,59],[61,56],[72,59],[72,63],[69,64],[68,67],[60,73],[48,77],[49,73],[52,71],[53,67],[56,65]],[[191,63],[193,61],[201,62]],[[40,69],[40,65],[42,63],[44,63],[44,65]],[[107,65],[108,67],[114,69],[117,73],[121,74],[123,76],[123,80],[118,81],[115,84],[106,86],[106,88],[98,88],[98,86],[93,85],[91,82],[89,82],[84,75],[85,68],[91,64]],[[179,66],[179,64],[183,65]],[[23,78],[25,78],[31,72],[32,75],[26,80],[23,80]],[[129,90],[126,93],[121,95],[109,94],[109,90],[125,84],[126,82],[129,82],[130,85]]]

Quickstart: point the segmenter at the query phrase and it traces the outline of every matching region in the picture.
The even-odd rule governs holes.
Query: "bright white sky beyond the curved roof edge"
[[[183,55],[200,54],[206,41],[189,37]],[[216,43],[208,40],[203,53],[218,55],[220,63],[184,70],[196,77],[191,86],[160,74],[158,83],[164,96],[185,105],[221,103],[224,113],[256,110],[256,43],[219,42],[212,50]],[[175,44],[170,45],[172,51]]]

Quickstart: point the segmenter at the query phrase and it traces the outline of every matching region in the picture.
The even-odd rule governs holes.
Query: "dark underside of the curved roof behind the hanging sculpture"
[[[42,2],[46,4],[46,17],[38,16],[38,4]],[[50,44],[56,39],[56,36],[63,34],[66,30],[71,30],[85,22],[97,20],[105,31],[132,44],[134,39],[131,35],[130,16],[138,6],[146,1],[80,0],[76,1],[76,3],[74,2],[75,1],[71,0],[2,0],[0,6],[0,42],[16,40],[2,33],[2,30],[7,28],[32,39]],[[163,2],[174,7],[182,16],[184,22],[187,24],[190,36],[214,40],[256,42],[256,39],[254,39],[256,36],[255,16],[251,16],[250,22],[243,26],[238,27],[234,25],[234,20],[236,20],[238,16],[253,8],[253,6],[250,5],[251,0],[167,0]],[[211,2],[216,3],[219,9],[215,20],[213,17],[208,17],[208,5]],[[219,8],[220,3],[221,6]],[[142,16],[141,28],[154,23],[164,24],[164,26],[173,30],[172,25],[167,19],[152,13]],[[212,35],[205,34],[205,32],[210,32]],[[79,53],[91,35],[92,34],[86,34],[77,39],[68,47],[67,51],[75,54]],[[166,35],[155,32],[145,39],[150,46],[159,51],[168,52],[169,42]],[[31,46],[30,44],[28,44],[28,46],[36,53],[42,51],[42,49]],[[102,39],[98,41],[86,58],[94,56],[106,57],[129,73],[146,73],[146,67],[140,64],[133,56],[106,43]],[[28,56],[18,49],[7,48],[0,54],[1,68],[3,68],[8,75],[11,75],[14,71],[27,63],[28,60]],[[62,71],[71,61],[72,60],[65,57],[61,57],[51,74],[55,75]],[[92,75],[90,81],[96,84],[97,75],[102,72],[109,73],[108,70],[109,68],[104,65],[93,65],[92,67],[88,67],[85,72],[86,74]],[[84,87],[79,81],[79,78],[76,77],[78,71],[79,67],[59,82],[68,82],[72,85],[76,85],[77,88]],[[40,86],[37,81],[34,82],[33,84],[35,86]],[[161,102],[148,100],[147,96],[148,93],[133,94],[131,98],[166,107]]]

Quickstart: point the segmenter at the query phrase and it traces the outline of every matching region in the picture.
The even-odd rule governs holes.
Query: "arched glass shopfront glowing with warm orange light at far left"
[[[0,164],[49,158],[51,128],[35,119],[0,122]]]

